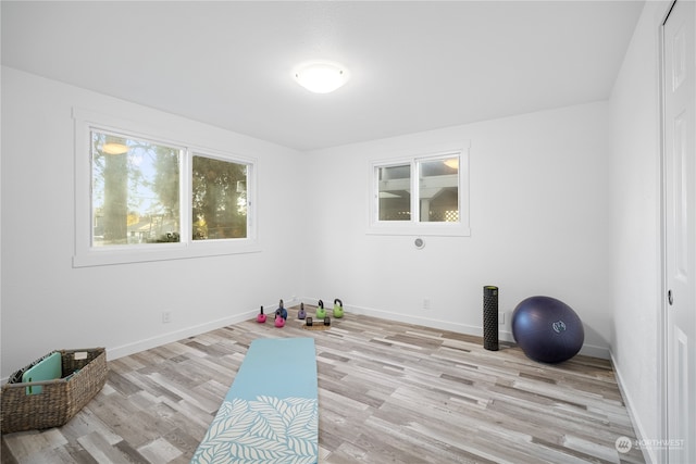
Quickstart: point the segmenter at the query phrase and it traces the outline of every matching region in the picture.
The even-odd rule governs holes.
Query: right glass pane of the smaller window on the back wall
[[[459,222],[459,156],[418,164],[420,222]]]

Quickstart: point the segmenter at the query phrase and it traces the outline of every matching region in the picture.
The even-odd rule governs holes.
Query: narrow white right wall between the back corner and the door
[[[661,438],[659,25],[646,2],[611,95],[611,356],[636,432]],[[659,462],[656,450],[648,451]]]

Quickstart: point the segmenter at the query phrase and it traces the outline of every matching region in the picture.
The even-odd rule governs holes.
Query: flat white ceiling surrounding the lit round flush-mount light
[[[2,64],[299,150],[605,100],[642,1],[2,1]],[[293,67],[341,62],[334,93]]]

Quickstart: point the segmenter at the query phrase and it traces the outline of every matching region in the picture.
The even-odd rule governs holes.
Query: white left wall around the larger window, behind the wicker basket
[[[129,114],[191,143],[254,156],[261,252],[72,267],[72,106]],[[115,358],[251,317],[297,294],[301,153],[53,80],[2,68],[2,367],[57,348]],[[162,324],[161,312],[172,312]]]

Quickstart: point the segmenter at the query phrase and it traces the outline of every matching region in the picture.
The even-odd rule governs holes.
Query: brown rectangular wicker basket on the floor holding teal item
[[[14,373],[2,386],[2,434],[64,425],[104,386],[109,367],[103,348],[58,352],[62,378],[22,383],[22,374],[44,356]],[[27,387],[34,386],[41,386],[42,391],[26,394]]]

